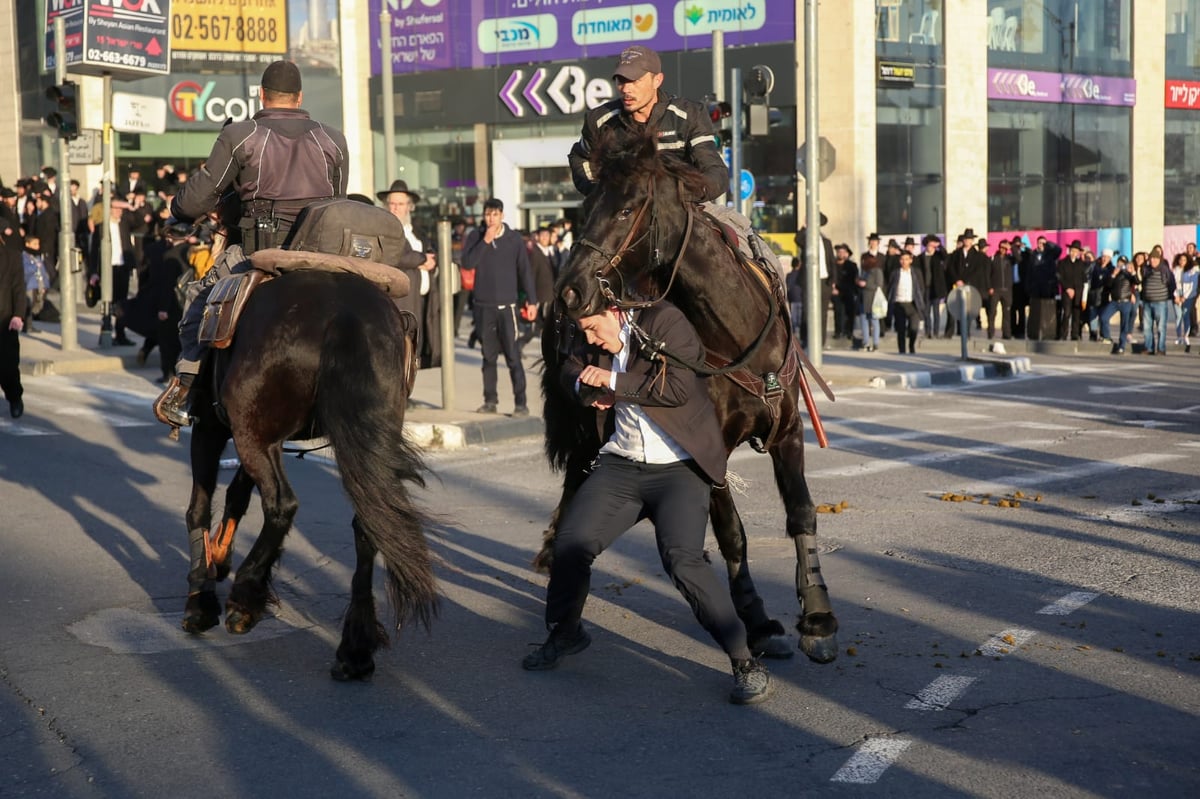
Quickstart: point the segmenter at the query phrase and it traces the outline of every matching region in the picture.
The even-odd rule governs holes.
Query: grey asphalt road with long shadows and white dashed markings
[[[288,462],[277,617],[187,637],[186,446],[149,420],[156,386],[26,391],[0,419],[2,797],[1200,795],[1200,358],[826,403],[806,455],[817,501],[846,503],[818,517],[841,654],[772,662],[752,708],[644,525],[598,561],[592,648],[520,668],[557,499],[536,439],[430,455],[442,612],[370,683],[328,677],[353,543],[319,455]],[[732,468],[791,627],[769,462]]]

